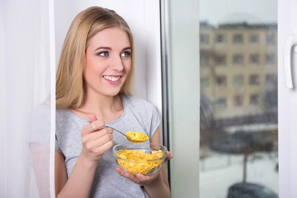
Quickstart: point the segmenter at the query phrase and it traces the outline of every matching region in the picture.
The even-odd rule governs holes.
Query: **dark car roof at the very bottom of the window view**
[[[237,183],[229,188],[227,198],[279,198],[279,196],[262,185]]]

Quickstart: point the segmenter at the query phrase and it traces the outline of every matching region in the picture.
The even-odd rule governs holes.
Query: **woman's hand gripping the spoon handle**
[[[98,162],[104,152],[113,147],[113,130],[102,128],[104,125],[103,120],[98,120],[96,115],[91,114],[90,124],[84,126],[81,131],[83,142],[81,155],[93,162]]]

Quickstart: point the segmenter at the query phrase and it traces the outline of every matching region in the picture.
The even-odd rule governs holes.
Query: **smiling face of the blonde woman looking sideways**
[[[127,32],[107,28],[96,34],[86,50],[84,78],[87,95],[116,96],[131,69],[131,45]]]

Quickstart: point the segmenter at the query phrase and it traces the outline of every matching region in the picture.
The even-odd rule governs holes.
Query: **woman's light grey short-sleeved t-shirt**
[[[156,108],[148,101],[122,96],[123,114],[115,121],[105,125],[122,132],[141,131],[151,138],[160,124]],[[69,178],[82,149],[81,129],[89,124],[68,109],[56,111],[55,149],[65,157],[67,176]],[[129,143],[123,135],[113,133],[114,146]],[[91,189],[90,198],[149,198],[143,187],[120,176],[115,168],[116,161],[112,149],[107,150],[98,163]]]

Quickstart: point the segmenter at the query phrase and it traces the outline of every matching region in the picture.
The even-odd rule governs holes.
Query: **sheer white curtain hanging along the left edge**
[[[54,197],[53,0],[0,0],[0,198]]]

